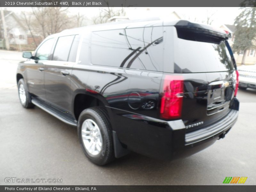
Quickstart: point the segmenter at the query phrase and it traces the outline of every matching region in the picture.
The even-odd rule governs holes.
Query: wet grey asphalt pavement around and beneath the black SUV
[[[62,185],[222,185],[225,177],[256,184],[256,90],[238,90],[240,114],[224,139],[175,161],[131,153],[100,167],[83,154],[76,128],[20,105],[15,73],[20,52],[0,51],[0,185],[5,178],[62,179]],[[29,184],[29,183],[27,183]],[[51,184],[51,183],[30,183]]]

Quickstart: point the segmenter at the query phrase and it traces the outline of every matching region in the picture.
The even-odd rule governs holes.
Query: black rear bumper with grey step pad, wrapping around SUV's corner
[[[125,148],[158,159],[172,160],[190,156],[223,138],[236,123],[239,101],[234,98],[228,115],[218,122],[193,132],[186,132],[182,120],[163,121],[147,116],[125,114],[116,116],[114,130]],[[132,125],[132,126],[131,126]]]

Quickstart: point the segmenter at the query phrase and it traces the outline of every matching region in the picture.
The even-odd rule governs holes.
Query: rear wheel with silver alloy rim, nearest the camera
[[[77,131],[84,154],[94,164],[105,165],[115,159],[107,112],[102,107],[92,107],[82,111]]]

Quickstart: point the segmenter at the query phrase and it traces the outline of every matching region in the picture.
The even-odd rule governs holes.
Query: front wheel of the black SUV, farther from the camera
[[[18,82],[18,93],[20,98],[20,104],[24,108],[33,108],[35,105],[31,102],[31,95],[28,92],[24,79],[20,79]]]

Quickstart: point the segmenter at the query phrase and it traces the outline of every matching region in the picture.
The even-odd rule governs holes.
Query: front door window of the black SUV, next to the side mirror
[[[52,50],[54,38],[46,40],[36,51],[37,60],[48,60],[48,57]]]

